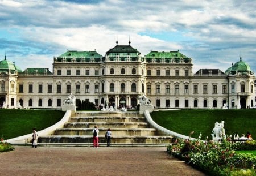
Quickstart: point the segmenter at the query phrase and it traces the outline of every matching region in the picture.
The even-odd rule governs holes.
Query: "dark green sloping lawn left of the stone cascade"
[[[63,118],[65,112],[57,110],[0,109],[0,137],[11,139],[32,134],[32,128],[43,130]]]

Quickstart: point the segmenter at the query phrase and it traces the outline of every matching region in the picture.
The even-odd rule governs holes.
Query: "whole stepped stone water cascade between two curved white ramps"
[[[79,111],[69,118],[64,128],[56,129],[51,136],[39,136],[38,143],[92,145],[94,126],[100,131],[100,145],[106,144],[108,128],[112,131],[110,145],[166,145],[172,139],[151,128],[138,112]]]

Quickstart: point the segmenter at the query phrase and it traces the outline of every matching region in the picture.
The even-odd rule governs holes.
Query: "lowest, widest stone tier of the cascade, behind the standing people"
[[[111,138],[112,144],[170,144],[171,136],[116,136]],[[73,136],[39,136],[38,143],[92,143],[92,135],[73,135]],[[99,136],[99,143],[106,143],[104,136]]]

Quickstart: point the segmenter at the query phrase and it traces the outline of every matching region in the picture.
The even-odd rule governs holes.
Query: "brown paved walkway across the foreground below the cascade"
[[[205,175],[166,147],[15,148],[0,153],[0,175]]]

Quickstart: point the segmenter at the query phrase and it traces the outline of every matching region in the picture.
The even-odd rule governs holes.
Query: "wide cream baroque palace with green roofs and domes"
[[[179,51],[150,51],[129,45],[96,51],[68,50],[48,68],[22,71],[5,57],[0,61],[0,106],[61,108],[71,93],[96,106],[137,106],[146,95],[155,108],[221,109],[255,106],[254,72],[240,58],[225,72],[200,69],[192,73],[192,58]]]

